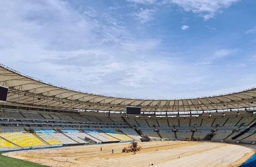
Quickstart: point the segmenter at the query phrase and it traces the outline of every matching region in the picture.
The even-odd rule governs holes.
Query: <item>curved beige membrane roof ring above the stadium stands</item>
[[[0,64],[0,85],[9,87],[7,102],[59,109],[125,111],[138,106],[145,112],[182,112],[256,107],[256,88],[224,95],[187,99],[135,99],[81,92],[23,75]]]

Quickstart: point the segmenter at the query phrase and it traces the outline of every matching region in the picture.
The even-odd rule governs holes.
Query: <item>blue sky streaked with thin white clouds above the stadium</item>
[[[103,95],[193,98],[256,86],[255,0],[2,0],[1,63]]]

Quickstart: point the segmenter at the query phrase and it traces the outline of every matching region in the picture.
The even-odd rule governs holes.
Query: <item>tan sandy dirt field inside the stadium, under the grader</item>
[[[151,164],[156,167],[235,167],[255,153],[239,145],[190,141],[139,142],[142,149],[136,155],[122,153],[128,144],[26,150],[3,155],[51,167],[148,167]]]

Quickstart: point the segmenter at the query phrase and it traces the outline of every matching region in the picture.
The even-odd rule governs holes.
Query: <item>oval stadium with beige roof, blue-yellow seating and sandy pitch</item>
[[[55,86],[4,65],[0,85],[5,156],[52,167],[224,167],[255,153],[255,88],[193,99],[118,98]],[[122,153],[134,141],[140,151]]]

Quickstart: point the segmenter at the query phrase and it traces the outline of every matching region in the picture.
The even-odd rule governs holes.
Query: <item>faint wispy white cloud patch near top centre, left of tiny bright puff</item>
[[[136,20],[139,20],[140,23],[143,24],[145,22],[153,20],[156,12],[157,12],[156,9],[140,8],[140,11],[132,13],[132,16],[134,16]]]

